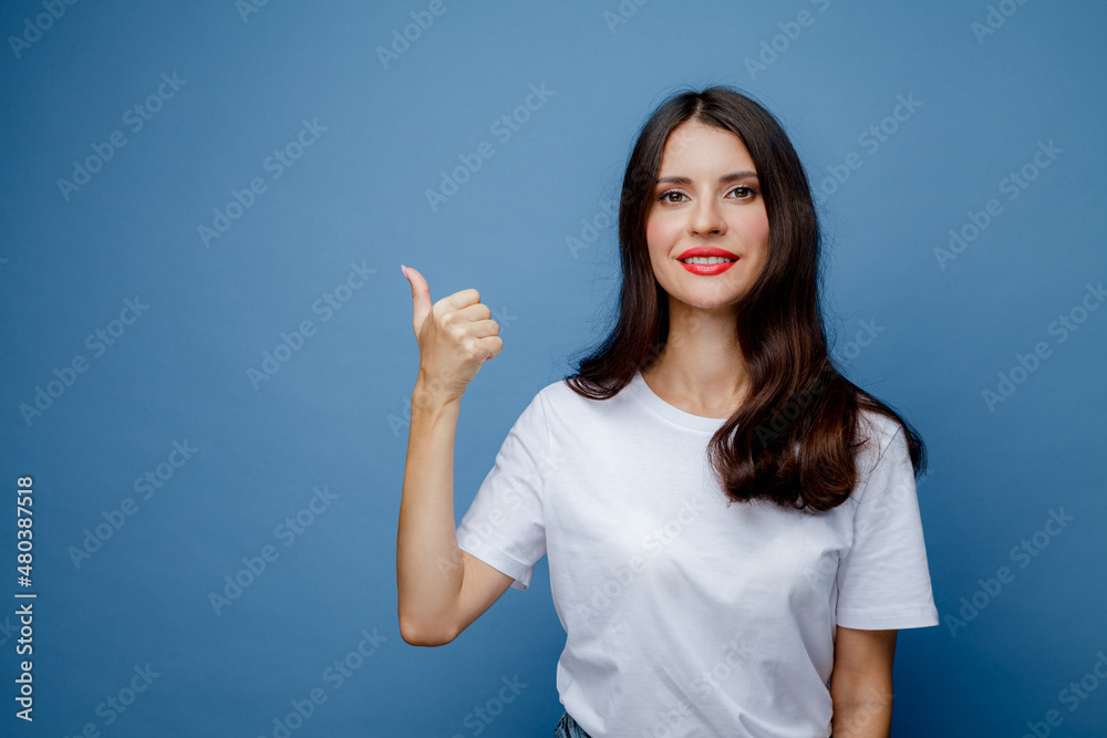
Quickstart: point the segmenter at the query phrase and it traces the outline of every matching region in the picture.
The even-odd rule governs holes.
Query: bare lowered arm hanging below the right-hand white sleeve
[[[892,726],[892,659],[899,631],[838,626],[830,674],[834,738],[888,738]]]

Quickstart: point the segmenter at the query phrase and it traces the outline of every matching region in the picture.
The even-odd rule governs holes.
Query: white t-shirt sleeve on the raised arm
[[[457,527],[457,547],[526,591],[546,554],[542,488],[549,465],[546,401],[535,396],[504,439],[496,462]]]

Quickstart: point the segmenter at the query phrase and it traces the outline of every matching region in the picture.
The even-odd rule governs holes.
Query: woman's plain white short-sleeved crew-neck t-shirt
[[[607,401],[557,382],[508,433],[458,547],[517,590],[549,555],[557,688],[592,738],[826,738],[837,626],[939,623],[903,430],[863,417],[845,503],[727,507],[705,454],[722,418],[641,373]]]

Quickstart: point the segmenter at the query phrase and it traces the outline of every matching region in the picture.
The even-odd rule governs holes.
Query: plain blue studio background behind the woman
[[[382,62],[428,4],[0,9],[0,731],[279,736],[275,720],[318,688],[325,701],[291,735],[550,735],[565,633],[545,559],[529,592],[509,590],[452,644],[400,637],[418,362],[400,263],[432,300],[477,288],[501,326],[503,353],[463,403],[459,520],[518,414],[604,334],[618,277],[604,204],[639,127],[672,92],[722,83],[782,119],[819,189],[836,354],[929,445],[919,498],[943,623],[900,633],[892,735],[1020,736],[1051,709],[1056,735],[1101,735],[1107,310],[1080,310],[1105,280],[1107,4],[993,3],[984,33],[986,3],[950,0],[446,0]],[[809,24],[789,25],[800,11]],[[37,17],[40,33],[25,25]],[[13,48],[24,33],[33,42]],[[126,112],[163,74],[182,82],[134,131]],[[505,141],[492,126],[530,85],[548,96]],[[886,121],[899,95],[919,107]],[[325,131],[289,147],[304,122]],[[873,150],[862,134],[882,123],[894,132]],[[115,131],[125,145],[63,191]],[[432,208],[426,191],[484,142],[494,156]],[[1061,153],[1037,168],[1049,142]],[[266,162],[287,148],[299,158],[277,178]],[[834,179],[851,153],[861,166]],[[1003,189],[1024,166],[1033,181]],[[255,178],[263,191],[205,243],[200,227],[232,190],[249,201]],[[941,261],[950,229],[993,198],[1002,211]],[[317,301],[352,264],[375,272],[328,315]],[[135,319],[126,300],[148,308]],[[121,312],[131,324],[113,323]],[[1069,314],[1062,341],[1049,326]],[[306,320],[299,350],[251,381]],[[863,347],[851,343],[862,322],[881,329]],[[113,343],[89,341],[97,330]],[[1011,377],[1038,343],[1048,356]],[[77,357],[85,371],[66,374]],[[1017,384],[990,406],[1001,373]],[[21,410],[39,388],[46,408]],[[165,466],[182,460],[175,441],[197,450]],[[172,477],[144,499],[135,480],[159,468]],[[35,500],[33,725],[13,717],[22,475]],[[324,487],[329,501],[304,513]],[[125,498],[134,514],[74,558]],[[1051,510],[1072,518],[1055,536],[1042,532]],[[299,533],[279,528],[298,513],[310,518]],[[267,545],[277,558],[214,606]],[[996,592],[1001,567],[1013,579]],[[362,631],[376,649],[349,657]],[[342,659],[358,667],[335,685],[327,669]],[[105,707],[147,664],[157,676],[126,711]],[[515,678],[527,686],[499,701]],[[1063,690],[1082,678],[1074,705]]]

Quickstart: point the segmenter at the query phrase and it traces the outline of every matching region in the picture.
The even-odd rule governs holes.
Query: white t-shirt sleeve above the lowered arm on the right
[[[837,623],[845,627],[896,630],[939,623],[914,469],[903,427],[897,426],[862,480],[853,541],[838,565]]]

